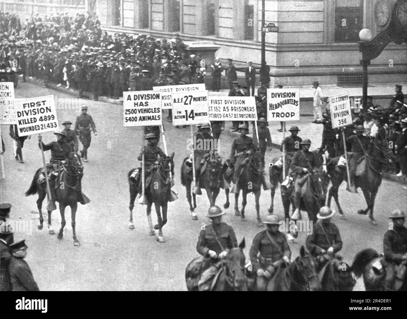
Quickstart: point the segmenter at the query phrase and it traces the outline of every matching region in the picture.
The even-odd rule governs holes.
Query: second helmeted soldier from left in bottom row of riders
[[[279,220],[276,215],[268,215],[263,222],[267,229],[258,233],[249,250],[253,271],[257,274],[258,291],[265,291],[268,281],[282,262],[289,263],[291,250],[287,238],[278,230]]]

